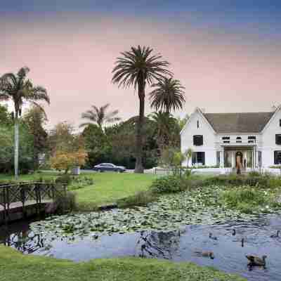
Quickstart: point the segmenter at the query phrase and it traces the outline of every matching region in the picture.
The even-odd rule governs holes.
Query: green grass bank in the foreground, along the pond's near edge
[[[156,259],[96,259],[74,263],[42,256],[25,256],[0,246],[0,281],[244,281],[242,277],[192,263]]]

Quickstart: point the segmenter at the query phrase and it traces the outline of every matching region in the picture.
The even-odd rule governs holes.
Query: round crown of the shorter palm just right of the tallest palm
[[[152,84],[152,88],[155,89],[150,93],[150,106],[155,110],[171,112],[171,109],[183,109],[185,87],[181,86],[179,80],[164,77],[156,84]]]

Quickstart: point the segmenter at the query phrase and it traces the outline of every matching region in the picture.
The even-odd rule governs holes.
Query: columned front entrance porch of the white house
[[[237,169],[240,162],[242,169],[253,169],[256,167],[256,146],[227,146],[221,152],[223,168]]]

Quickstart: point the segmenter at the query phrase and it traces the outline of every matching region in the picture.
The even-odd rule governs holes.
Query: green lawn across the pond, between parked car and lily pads
[[[94,184],[75,190],[77,202],[83,209],[91,209],[101,204],[114,203],[124,197],[148,190],[154,174],[95,173],[85,174],[93,177]]]

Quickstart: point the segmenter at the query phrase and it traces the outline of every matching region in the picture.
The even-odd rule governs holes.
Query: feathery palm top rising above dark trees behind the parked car
[[[102,107],[96,107],[95,105],[91,106],[91,110],[87,110],[86,112],[82,113],[81,117],[83,119],[89,120],[89,122],[83,123],[80,127],[88,126],[89,124],[96,123],[103,129],[103,124],[105,123],[112,123],[121,120],[120,117],[116,117],[118,114],[118,110],[114,110],[112,112],[106,112],[107,108],[110,106],[110,103],[103,105]]]

